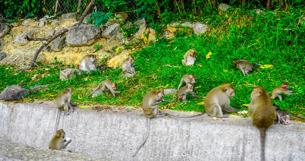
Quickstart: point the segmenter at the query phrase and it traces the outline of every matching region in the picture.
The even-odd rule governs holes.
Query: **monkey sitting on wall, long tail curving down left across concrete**
[[[145,117],[146,117],[146,133],[145,138],[140,144],[140,146],[136,149],[135,153],[133,154],[133,157],[138,153],[140,148],[145,144],[148,138],[149,130],[150,130],[150,122],[152,118],[156,117],[162,117],[162,115],[159,115],[159,108],[158,105],[164,101],[163,99],[164,92],[163,89],[154,90],[148,92],[145,97],[143,98],[142,102],[142,109],[144,111]]]

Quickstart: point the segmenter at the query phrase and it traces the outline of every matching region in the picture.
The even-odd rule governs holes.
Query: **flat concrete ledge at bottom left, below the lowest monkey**
[[[114,161],[76,153],[0,141],[1,161]]]

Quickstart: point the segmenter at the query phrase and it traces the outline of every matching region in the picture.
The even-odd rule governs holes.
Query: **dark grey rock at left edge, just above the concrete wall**
[[[29,95],[28,89],[22,88],[20,85],[7,86],[0,94],[0,100],[17,100],[23,99],[25,95]]]

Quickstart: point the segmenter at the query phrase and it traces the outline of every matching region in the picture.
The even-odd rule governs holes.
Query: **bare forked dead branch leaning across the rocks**
[[[38,49],[38,51],[35,52],[35,55],[33,57],[33,60],[31,61],[30,65],[24,69],[24,70],[30,70],[31,68],[33,68],[35,61],[37,60],[38,54],[41,52],[41,50],[47,46],[50,42],[52,42],[53,40],[55,40],[58,36],[66,33],[69,31],[69,29],[73,26],[79,26],[82,21],[84,20],[85,16],[87,15],[88,11],[92,8],[92,6],[94,5],[95,0],[91,0],[91,2],[89,3],[89,5],[86,7],[84,13],[80,16],[79,20],[77,23],[75,23],[74,25],[67,27],[65,29],[60,30],[59,32],[57,32],[55,35],[53,35],[50,38],[28,38],[27,36],[25,37],[26,40],[46,40],[45,43],[43,43],[40,48]],[[22,69],[21,69],[22,70]]]

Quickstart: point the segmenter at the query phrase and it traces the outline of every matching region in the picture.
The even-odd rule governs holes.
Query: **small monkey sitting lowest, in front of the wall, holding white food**
[[[65,148],[72,140],[70,138],[65,139],[65,135],[66,133],[62,129],[57,130],[49,142],[49,148],[71,152]]]

